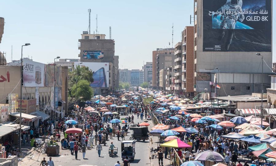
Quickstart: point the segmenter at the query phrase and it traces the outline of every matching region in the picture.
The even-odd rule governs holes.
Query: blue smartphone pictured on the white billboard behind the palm
[[[98,69],[96,72],[93,72],[94,82],[90,84],[94,88],[107,88],[107,82],[105,77],[105,68]]]

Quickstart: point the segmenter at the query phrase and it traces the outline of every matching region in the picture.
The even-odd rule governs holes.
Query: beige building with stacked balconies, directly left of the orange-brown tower
[[[183,94],[181,89],[181,77],[182,77],[182,44],[181,42],[176,43],[174,46],[174,91],[177,94]]]

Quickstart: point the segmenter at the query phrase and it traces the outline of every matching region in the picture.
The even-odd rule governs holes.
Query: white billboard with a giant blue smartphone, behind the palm
[[[81,62],[74,62],[75,68]],[[86,66],[93,73],[94,82],[90,83],[93,88],[108,88],[109,87],[109,63],[105,62],[82,62],[80,66]]]

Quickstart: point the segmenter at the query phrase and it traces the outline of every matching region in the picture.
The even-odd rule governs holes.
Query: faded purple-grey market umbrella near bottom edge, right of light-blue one
[[[207,151],[199,153],[194,160],[215,161],[216,163],[217,162],[225,162],[224,157],[221,154],[219,154],[218,152],[211,151],[211,150],[207,150]]]

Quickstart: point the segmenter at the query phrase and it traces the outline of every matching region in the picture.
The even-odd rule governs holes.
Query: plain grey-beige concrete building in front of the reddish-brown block
[[[169,53],[169,54],[157,54],[156,56],[156,86],[159,88],[159,71],[161,69],[164,69],[165,71],[167,70],[168,67],[174,66],[174,54]],[[153,68],[152,68],[153,70]]]

